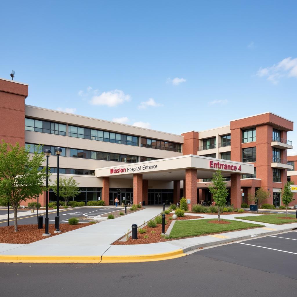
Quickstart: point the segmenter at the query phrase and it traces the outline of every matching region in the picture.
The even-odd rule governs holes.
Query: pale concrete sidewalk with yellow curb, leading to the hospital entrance
[[[259,223],[265,227],[153,244],[111,245],[113,241],[123,236],[124,232],[127,232],[127,228],[131,229],[131,224],[141,225],[144,220],[148,221],[155,217],[161,210],[162,208],[145,208],[124,218],[103,221],[31,244],[0,244],[0,262],[121,263],[165,260],[184,256],[186,252],[199,247],[277,234],[297,228],[297,223],[285,225]],[[257,214],[222,215],[222,218],[234,219],[239,215],[256,216]],[[202,216],[217,218],[217,215],[211,214]],[[116,232],[114,232],[115,228]]]

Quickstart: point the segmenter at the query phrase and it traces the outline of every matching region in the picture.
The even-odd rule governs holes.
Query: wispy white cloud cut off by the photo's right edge
[[[271,67],[260,68],[257,75],[267,77],[267,80],[270,80],[274,84],[277,84],[282,77],[297,78],[297,58],[292,59],[292,57],[288,57]]]

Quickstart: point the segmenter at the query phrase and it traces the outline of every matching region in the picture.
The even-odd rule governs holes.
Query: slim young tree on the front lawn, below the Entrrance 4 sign
[[[208,186],[209,191],[213,195],[214,202],[218,206],[218,220],[220,220],[220,207],[224,207],[227,203],[226,198],[228,196],[228,189],[226,189],[227,183],[222,175],[221,170],[217,170],[212,177],[212,185]]]

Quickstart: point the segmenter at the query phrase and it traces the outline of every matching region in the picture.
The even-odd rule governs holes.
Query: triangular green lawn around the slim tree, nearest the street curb
[[[209,233],[221,233],[226,231],[236,231],[247,228],[263,227],[263,225],[245,223],[221,219],[221,221],[230,222],[230,224],[214,224],[208,221],[215,219],[201,219],[195,221],[176,221],[170,232],[169,238],[181,238],[187,236],[199,236]]]

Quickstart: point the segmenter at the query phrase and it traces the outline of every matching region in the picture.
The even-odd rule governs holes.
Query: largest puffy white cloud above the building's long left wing
[[[130,95],[124,94],[121,90],[113,90],[93,96],[90,103],[92,105],[107,105],[109,107],[114,107],[126,101],[130,101]]]

